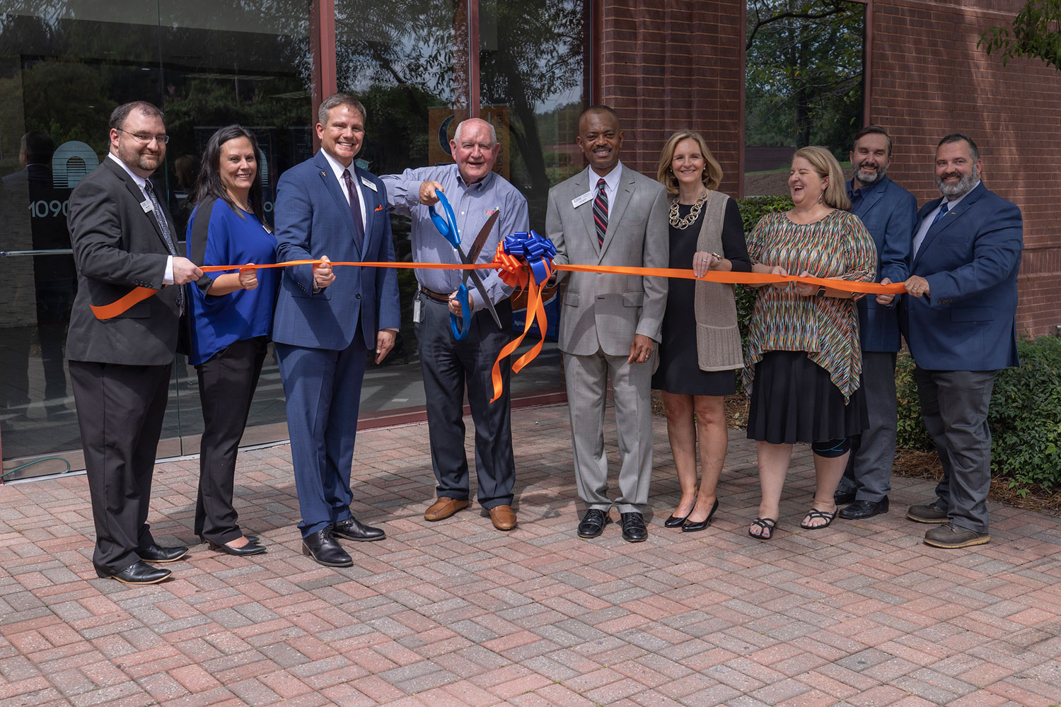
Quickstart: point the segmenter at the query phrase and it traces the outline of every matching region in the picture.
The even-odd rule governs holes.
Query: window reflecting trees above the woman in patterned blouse
[[[863,125],[865,24],[862,2],[748,0],[746,195],[787,194],[799,147],[822,145],[845,164]]]

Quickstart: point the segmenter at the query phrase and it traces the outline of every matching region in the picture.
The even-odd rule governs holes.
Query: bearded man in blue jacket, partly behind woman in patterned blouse
[[[848,184],[851,213],[862,218],[876,244],[881,282],[906,280],[910,237],[918,201],[887,177],[891,138],[884,128],[868,125],[855,134],[851,148],[854,176]],[[890,301],[890,300],[889,300]],[[841,518],[869,518],[888,512],[891,465],[895,460],[895,352],[899,313],[873,298],[858,300],[858,330],[863,350],[863,389],[869,428],[851,440],[848,466],[836,489],[836,502],[850,503]]]

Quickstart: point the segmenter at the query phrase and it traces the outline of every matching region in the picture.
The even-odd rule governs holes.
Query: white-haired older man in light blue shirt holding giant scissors
[[[452,246],[431,222],[435,190],[446,194],[456,215],[462,247],[468,249],[493,210],[500,214],[477,261],[492,260],[498,242],[516,231],[529,229],[526,199],[512,184],[493,172],[501,145],[493,126],[477,118],[457,125],[450,141],[454,164],[405,170],[383,177],[392,213],[412,217],[413,259],[420,263],[460,262]],[[449,315],[460,316],[454,298],[460,270],[416,270],[420,291],[414,303],[417,349],[427,394],[431,464],[438,480],[438,498],[424,512],[427,520],[448,518],[469,505],[468,458],[465,454],[464,396],[468,390],[475,425],[475,474],[480,505],[498,530],[516,527],[512,485],[516,462],[510,428],[509,369],[501,367],[505,386],[502,396],[490,403],[493,385],[490,369],[501,349],[511,338],[511,290],[497,272],[483,275],[484,285],[501,317],[499,330],[485,302],[474,288],[468,293],[472,321],[468,336],[457,340],[450,331]]]

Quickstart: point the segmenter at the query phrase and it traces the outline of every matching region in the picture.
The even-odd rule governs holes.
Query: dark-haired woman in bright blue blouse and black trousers
[[[236,453],[258,386],[279,284],[276,237],[262,217],[258,141],[239,125],[213,134],[195,184],[188,258],[196,265],[246,263],[239,272],[207,273],[191,287],[192,352],[203,402],[195,533],[210,549],[264,552],[232,508]],[[215,277],[210,277],[211,275]]]

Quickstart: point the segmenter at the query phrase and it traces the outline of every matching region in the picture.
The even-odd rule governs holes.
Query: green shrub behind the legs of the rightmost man
[[[1019,493],[1061,488],[1061,338],[1017,341],[1019,368],[995,377],[988,412],[991,472]],[[903,353],[895,378],[901,448],[935,448],[921,422],[914,361]]]

